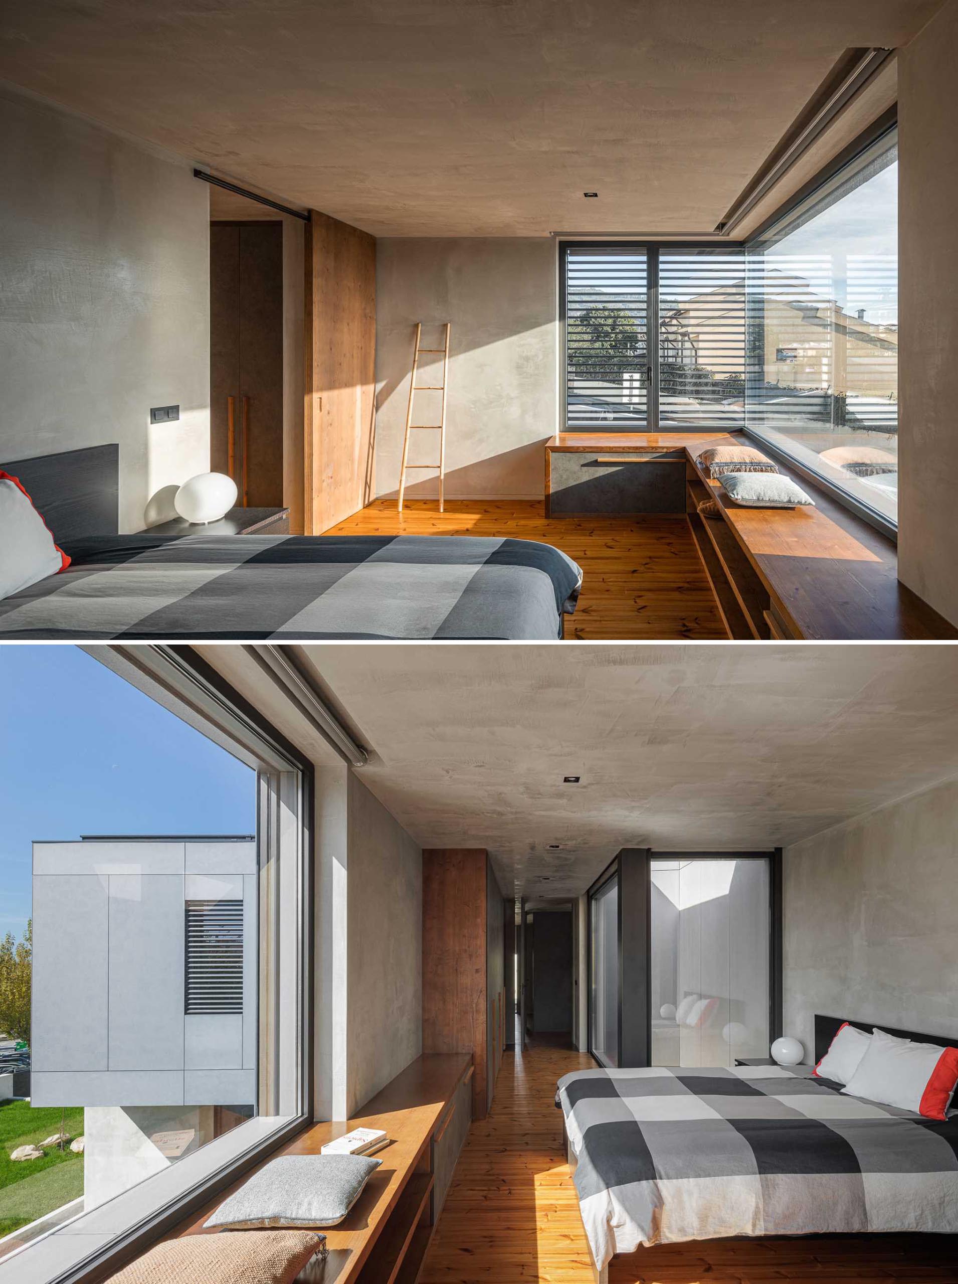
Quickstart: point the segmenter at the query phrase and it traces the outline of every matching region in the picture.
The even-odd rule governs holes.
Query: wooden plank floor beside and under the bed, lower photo
[[[473,1125],[421,1284],[589,1284],[575,1189],[562,1154],[556,1080],[591,1058],[555,1046],[506,1053],[488,1118]],[[815,1235],[641,1248],[610,1284],[958,1281],[958,1239]]]

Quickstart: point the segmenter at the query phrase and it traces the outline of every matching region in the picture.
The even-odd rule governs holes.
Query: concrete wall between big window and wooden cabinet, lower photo
[[[348,1109],[422,1050],[422,853],[353,773],[348,783]]]

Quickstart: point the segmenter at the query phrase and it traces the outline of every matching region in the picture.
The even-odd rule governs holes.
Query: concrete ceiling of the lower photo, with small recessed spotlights
[[[623,846],[787,846],[958,776],[946,645],[303,655],[416,842],[488,847],[503,891],[537,901],[580,894]]]

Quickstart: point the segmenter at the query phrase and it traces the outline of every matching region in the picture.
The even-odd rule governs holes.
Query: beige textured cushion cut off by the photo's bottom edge
[[[109,1284],[290,1284],[322,1249],[315,1230],[235,1230],[157,1244]]]

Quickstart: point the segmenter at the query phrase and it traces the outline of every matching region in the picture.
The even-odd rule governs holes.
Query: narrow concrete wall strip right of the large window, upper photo
[[[958,624],[958,6],[899,50],[899,577]]]

